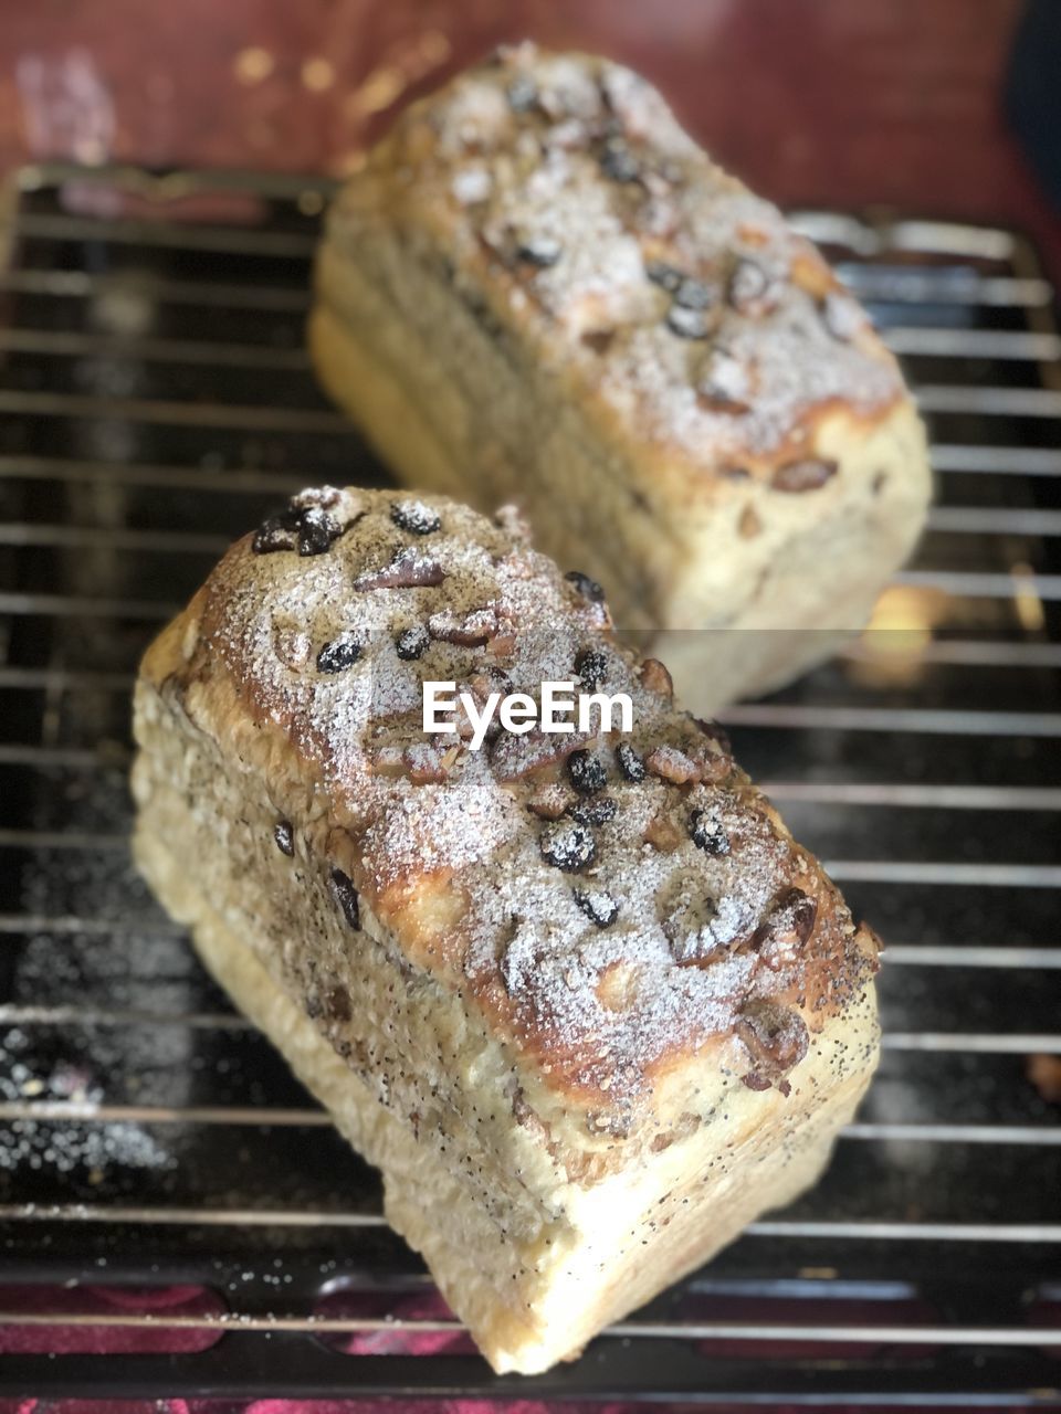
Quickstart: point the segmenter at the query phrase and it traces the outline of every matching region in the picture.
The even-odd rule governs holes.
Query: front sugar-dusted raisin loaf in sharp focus
[[[631,732],[427,738],[423,682]],[[383,1171],[497,1369],[577,1353],[819,1172],[877,945],[666,670],[518,519],[321,488],[149,650],[136,853]]]

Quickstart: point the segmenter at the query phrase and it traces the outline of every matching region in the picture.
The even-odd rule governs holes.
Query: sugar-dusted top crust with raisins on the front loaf
[[[399,882],[460,899],[451,984],[557,1083],[607,1092],[621,1109],[656,1060],[731,1032],[750,1000],[809,995],[812,964],[828,990],[847,915],[819,908],[802,950],[760,954],[755,929],[772,901],[796,875],[805,888],[821,877],[714,735],[642,686],[637,660],[600,628],[600,605],[497,523],[426,498],[420,509],[440,529],[417,540],[396,525],[395,502],[365,492],[364,513],[314,557],[255,554],[249,537],[233,547],[208,585],[190,710],[218,656],[252,714],[320,778],[330,817],[355,841],[358,891],[372,901]],[[410,539],[444,571],[439,583],[359,587]],[[402,658],[402,635],[427,625],[448,636]],[[321,670],[321,645],[337,641],[358,645],[356,656]],[[608,691],[630,694],[631,737],[495,727],[472,751],[460,728],[422,730],[427,679],[477,700],[498,689],[539,697],[542,682],[576,679],[589,652],[605,665]],[[622,769],[621,742],[652,764],[642,779]],[[572,756],[587,744],[591,773]],[[675,768],[705,762],[712,769]],[[297,829],[293,807],[291,819]],[[697,837],[705,819],[724,848]],[[390,922],[400,946],[400,912]]]

